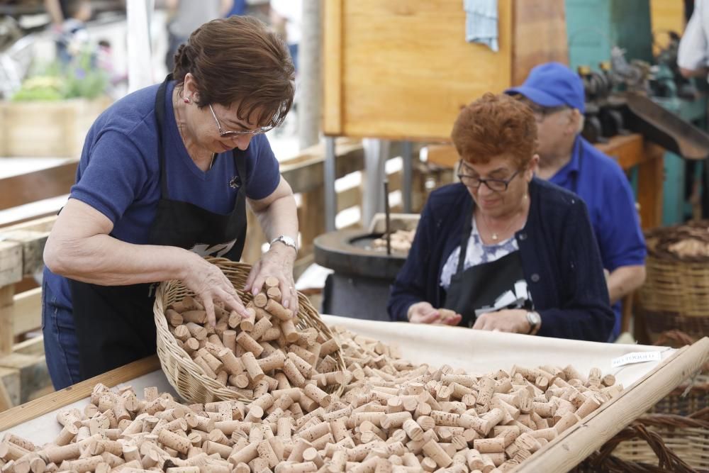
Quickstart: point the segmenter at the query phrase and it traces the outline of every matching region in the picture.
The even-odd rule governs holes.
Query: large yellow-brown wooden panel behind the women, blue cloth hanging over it
[[[327,0],[326,135],[449,140],[459,108],[567,62],[563,0],[500,0],[500,50],[465,40],[455,0]]]

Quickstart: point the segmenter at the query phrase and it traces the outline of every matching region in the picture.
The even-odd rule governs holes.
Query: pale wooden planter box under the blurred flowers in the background
[[[95,100],[0,103],[0,156],[79,157],[86,132],[111,104]]]

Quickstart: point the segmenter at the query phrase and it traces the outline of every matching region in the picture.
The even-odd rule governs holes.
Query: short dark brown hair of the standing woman
[[[174,56],[173,78],[194,76],[200,107],[240,101],[240,120],[278,126],[293,104],[293,61],[285,43],[257,18],[231,16],[194,30]],[[256,116],[252,115],[257,113]]]

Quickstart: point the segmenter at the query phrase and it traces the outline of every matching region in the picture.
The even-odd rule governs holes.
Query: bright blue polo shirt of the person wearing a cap
[[[635,196],[618,162],[579,135],[571,160],[549,181],[574,192],[586,203],[605,269],[613,272],[622,266],[645,264],[647,250]],[[620,333],[620,301],[613,304],[613,312],[616,338]]]

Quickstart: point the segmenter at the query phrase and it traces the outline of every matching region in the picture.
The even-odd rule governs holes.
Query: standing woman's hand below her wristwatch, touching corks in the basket
[[[293,313],[298,312],[298,293],[296,284],[293,281],[293,263],[296,260],[294,248],[274,244],[264,253],[261,259],[251,269],[249,277],[244,285],[245,291],[251,291],[256,295],[261,292],[264,281],[267,277],[277,277],[281,289],[281,304],[285,308],[291,309]]]

